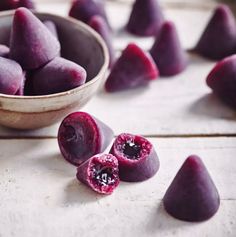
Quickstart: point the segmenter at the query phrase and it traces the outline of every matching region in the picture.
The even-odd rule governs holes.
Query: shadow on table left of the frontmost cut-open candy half
[[[96,194],[93,190],[79,182],[77,179],[71,180],[65,187],[64,191],[64,205],[66,206],[97,202],[99,199],[105,197],[101,194]]]

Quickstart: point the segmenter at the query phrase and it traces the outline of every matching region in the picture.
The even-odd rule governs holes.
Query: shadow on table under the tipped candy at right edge
[[[206,94],[196,100],[189,108],[190,113],[206,117],[236,120],[236,112],[223,104],[214,94]]]

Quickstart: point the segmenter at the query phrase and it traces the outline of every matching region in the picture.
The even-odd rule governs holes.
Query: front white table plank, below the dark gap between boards
[[[151,139],[160,171],[101,196],[75,179],[55,139],[0,140],[0,236],[232,236],[236,234],[236,138]],[[221,195],[211,220],[168,216],[161,199],[185,157],[202,157]]]

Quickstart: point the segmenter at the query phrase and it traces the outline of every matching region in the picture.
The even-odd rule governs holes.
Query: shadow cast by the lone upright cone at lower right
[[[177,234],[178,229],[197,224],[198,223],[189,223],[173,218],[165,211],[163,202],[161,202],[150,216],[150,222],[147,224],[147,231],[150,233],[168,232],[168,234],[171,233],[174,236]]]

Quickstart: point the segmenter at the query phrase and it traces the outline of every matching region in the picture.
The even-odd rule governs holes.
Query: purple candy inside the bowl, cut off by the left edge
[[[0,57],[0,93],[16,94],[23,78],[22,68],[17,62]]]

